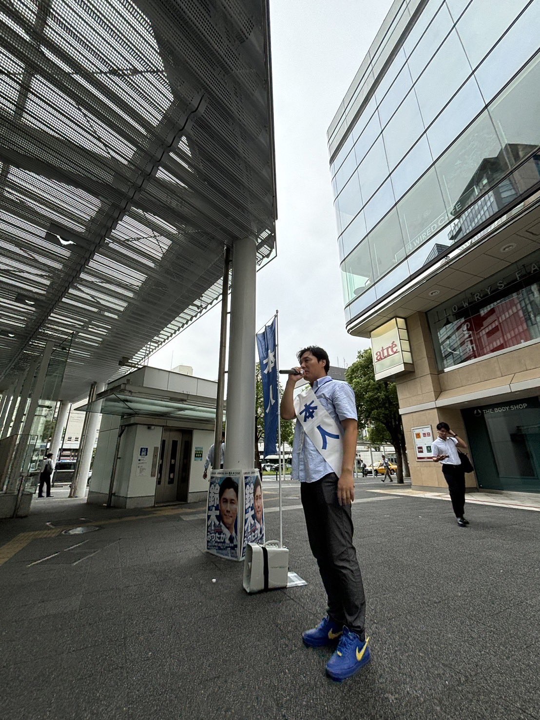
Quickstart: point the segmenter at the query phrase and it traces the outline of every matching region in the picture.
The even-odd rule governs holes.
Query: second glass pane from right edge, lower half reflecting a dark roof
[[[508,171],[487,110],[435,163],[446,210],[456,217]]]

